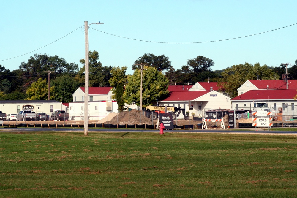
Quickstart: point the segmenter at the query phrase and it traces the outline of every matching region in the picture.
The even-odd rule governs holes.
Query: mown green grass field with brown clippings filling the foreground
[[[0,132],[0,197],[296,197],[297,136]]]

